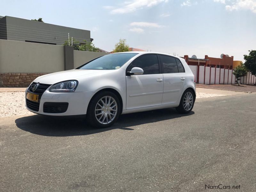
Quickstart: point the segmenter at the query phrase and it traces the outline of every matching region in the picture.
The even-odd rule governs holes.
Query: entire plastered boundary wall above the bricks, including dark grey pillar
[[[108,53],[73,51],[71,46],[0,39],[0,73],[53,73]]]

